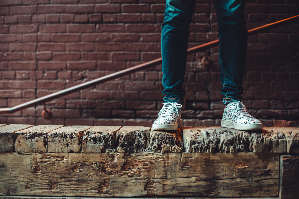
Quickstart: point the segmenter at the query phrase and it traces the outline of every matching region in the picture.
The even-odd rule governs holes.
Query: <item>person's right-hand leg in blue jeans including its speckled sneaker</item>
[[[222,127],[238,130],[262,129],[263,124],[248,114],[242,101],[247,30],[245,0],[215,0],[219,36],[220,80],[225,109]]]

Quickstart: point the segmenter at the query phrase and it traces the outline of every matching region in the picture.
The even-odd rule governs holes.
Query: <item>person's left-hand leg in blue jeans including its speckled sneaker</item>
[[[153,130],[176,130],[181,127],[181,107],[187,62],[189,26],[196,0],[166,0],[162,24],[162,84],[164,106],[152,125]]]

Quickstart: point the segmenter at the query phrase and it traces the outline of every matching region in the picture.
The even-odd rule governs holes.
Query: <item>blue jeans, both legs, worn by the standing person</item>
[[[196,0],[166,0],[162,24],[164,102],[184,104],[182,89],[187,62],[189,26]],[[218,20],[220,80],[223,103],[242,101],[247,50],[245,0],[215,0]]]

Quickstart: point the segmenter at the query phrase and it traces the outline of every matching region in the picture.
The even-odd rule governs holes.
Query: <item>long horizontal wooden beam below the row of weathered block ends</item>
[[[4,195],[278,197],[279,154],[0,153],[0,157]]]

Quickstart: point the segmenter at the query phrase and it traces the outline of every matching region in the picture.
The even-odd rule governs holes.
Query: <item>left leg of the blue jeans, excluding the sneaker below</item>
[[[186,92],[182,86],[187,62],[189,26],[195,2],[195,0],[166,0],[161,35],[164,102],[184,103]]]

